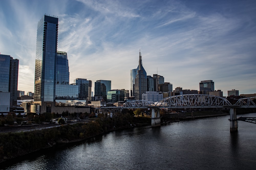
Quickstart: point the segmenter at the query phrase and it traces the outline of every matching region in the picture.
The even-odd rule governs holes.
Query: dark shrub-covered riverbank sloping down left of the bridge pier
[[[88,140],[96,135],[113,130],[150,125],[148,117],[117,115],[113,118],[100,117],[90,122],[61,125],[15,133],[0,134],[0,163],[56,146]]]

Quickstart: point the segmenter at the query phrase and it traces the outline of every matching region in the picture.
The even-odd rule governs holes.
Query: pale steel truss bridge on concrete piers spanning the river
[[[237,121],[246,121],[256,123],[254,117],[238,118],[236,116],[236,108],[256,108],[255,97],[241,98],[235,104],[231,104],[226,98],[212,95],[177,95],[166,97],[158,102],[146,100],[133,100],[123,104],[122,107],[103,107],[95,108],[100,112],[121,112],[122,109],[151,108],[151,126],[161,126],[159,109],[161,108],[230,108],[230,132],[237,131]]]

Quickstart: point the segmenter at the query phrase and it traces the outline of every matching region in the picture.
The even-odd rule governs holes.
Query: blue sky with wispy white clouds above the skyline
[[[147,75],[173,89],[256,93],[255,0],[0,0],[0,53],[19,59],[18,90],[34,92],[36,34],[44,15],[59,19],[58,51],[76,78],[130,90],[139,52]]]

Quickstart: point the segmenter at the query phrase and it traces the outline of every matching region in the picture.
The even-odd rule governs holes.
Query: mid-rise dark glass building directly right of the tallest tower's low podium
[[[88,101],[91,101],[92,81],[87,79],[77,78],[76,80],[74,80],[74,83],[78,85],[78,98],[88,99]]]

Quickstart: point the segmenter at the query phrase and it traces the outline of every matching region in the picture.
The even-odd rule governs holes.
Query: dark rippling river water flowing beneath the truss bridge
[[[239,117],[238,115],[237,117]],[[256,113],[243,117],[256,117]],[[3,169],[255,169],[256,124],[229,116],[136,127],[29,156]],[[0,167],[1,169],[1,167]]]

